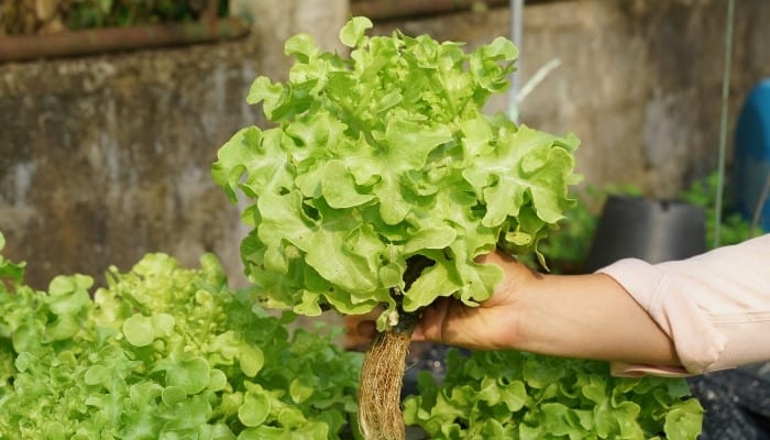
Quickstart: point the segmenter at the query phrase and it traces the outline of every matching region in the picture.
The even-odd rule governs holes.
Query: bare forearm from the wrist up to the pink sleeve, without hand
[[[674,345],[604,274],[539,276],[516,297],[512,348],[541,354],[678,365]]]

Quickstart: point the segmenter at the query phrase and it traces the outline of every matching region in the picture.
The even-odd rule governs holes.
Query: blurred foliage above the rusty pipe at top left
[[[226,0],[3,0],[0,35],[187,22],[227,13]]]

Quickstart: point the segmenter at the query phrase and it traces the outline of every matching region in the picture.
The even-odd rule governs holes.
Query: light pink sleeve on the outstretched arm
[[[674,342],[684,369],[614,363],[615,375],[683,376],[770,361],[770,234],[689,260],[604,267]]]

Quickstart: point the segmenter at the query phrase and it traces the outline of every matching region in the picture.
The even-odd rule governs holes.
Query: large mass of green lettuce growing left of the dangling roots
[[[2,235],[0,234],[0,249]],[[0,257],[0,439],[337,439],[361,356],[267,316],[219,262],[148,254],[47,293]]]

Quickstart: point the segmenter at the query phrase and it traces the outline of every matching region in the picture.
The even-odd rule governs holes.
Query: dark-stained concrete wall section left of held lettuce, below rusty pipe
[[[209,168],[257,120],[258,52],[248,38],[0,66],[0,230],[34,286],[156,251],[216,252],[238,278],[243,231]]]

